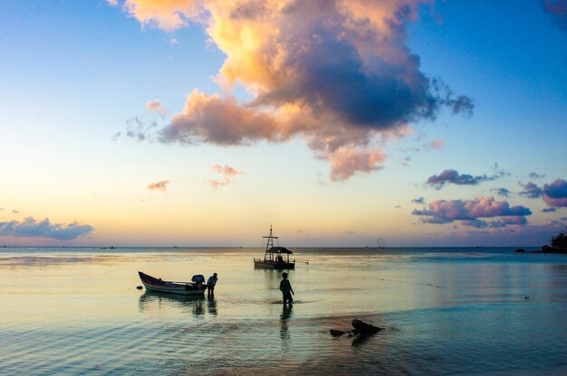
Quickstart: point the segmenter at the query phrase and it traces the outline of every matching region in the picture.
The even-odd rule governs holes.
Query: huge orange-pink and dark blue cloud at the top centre
[[[472,111],[408,49],[406,24],[428,2],[127,0],[122,8],[165,31],[202,24],[226,54],[217,82],[252,95],[242,103],[195,89],[159,140],[234,146],[299,136],[331,164],[332,180],[346,180],[380,169],[384,142],[408,124],[441,108]]]

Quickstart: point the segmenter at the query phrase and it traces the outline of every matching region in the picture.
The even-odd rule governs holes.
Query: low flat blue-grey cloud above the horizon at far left
[[[24,221],[0,222],[0,236],[29,238],[50,238],[56,240],[74,240],[89,235],[94,228],[88,224],[73,221],[70,224],[51,223],[47,218],[35,221],[28,217]]]

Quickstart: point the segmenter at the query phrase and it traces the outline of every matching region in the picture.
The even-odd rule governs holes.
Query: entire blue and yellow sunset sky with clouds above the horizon
[[[565,0],[0,3],[0,246],[528,247]]]

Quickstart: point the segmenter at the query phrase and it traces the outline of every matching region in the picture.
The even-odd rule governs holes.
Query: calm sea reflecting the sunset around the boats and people
[[[567,374],[567,255],[293,251],[283,305],[263,249],[0,249],[0,374]],[[138,271],[216,272],[215,296],[150,293]],[[355,318],[384,330],[330,334]]]

